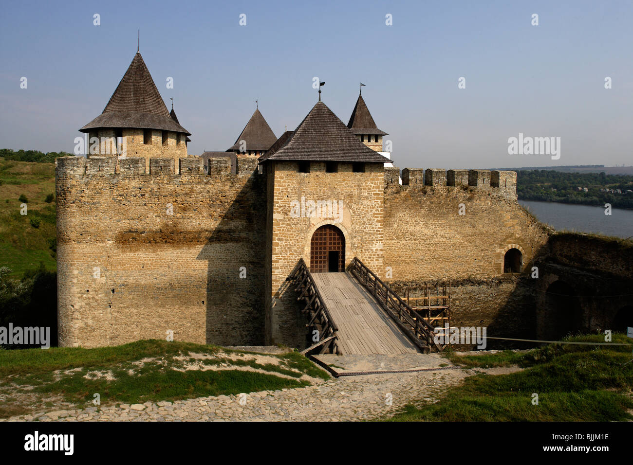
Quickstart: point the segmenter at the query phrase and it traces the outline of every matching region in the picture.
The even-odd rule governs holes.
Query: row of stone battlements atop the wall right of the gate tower
[[[385,168],[385,189],[399,186],[399,168]],[[402,170],[402,189],[420,189],[425,187],[472,188],[488,193],[516,197],[516,171],[499,170],[443,170],[440,168],[404,168]]]

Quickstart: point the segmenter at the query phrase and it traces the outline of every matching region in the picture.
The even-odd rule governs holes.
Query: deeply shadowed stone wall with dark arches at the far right
[[[551,237],[536,285],[537,336],[626,333],[633,326],[633,247],[564,233]]]

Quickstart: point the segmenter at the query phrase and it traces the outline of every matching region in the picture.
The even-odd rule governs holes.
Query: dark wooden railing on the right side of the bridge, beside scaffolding
[[[382,282],[358,257],[354,257],[348,271],[372,293],[385,312],[423,352],[429,352],[432,347],[439,351],[444,349],[434,338],[434,327]]]

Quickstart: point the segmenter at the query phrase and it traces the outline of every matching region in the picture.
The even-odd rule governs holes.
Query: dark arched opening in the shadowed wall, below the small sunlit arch
[[[582,331],[582,309],[576,292],[566,282],[557,280],[545,292],[543,335],[548,340],[560,340]]]

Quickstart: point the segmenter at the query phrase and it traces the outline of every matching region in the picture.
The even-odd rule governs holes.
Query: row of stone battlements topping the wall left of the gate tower
[[[92,176],[250,176],[257,169],[257,157],[240,157],[237,160],[237,173],[231,174],[230,158],[211,158],[208,170],[204,170],[203,159],[199,156],[188,156],[179,159],[179,170],[175,173],[173,158],[150,158],[149,173],[146,159],[142,157],[118,158],[116,156],[61,157],[55,160],[55,171],[58,177],[92,177]]]

